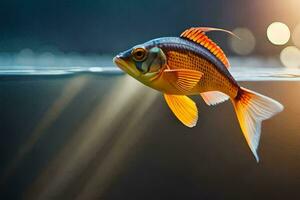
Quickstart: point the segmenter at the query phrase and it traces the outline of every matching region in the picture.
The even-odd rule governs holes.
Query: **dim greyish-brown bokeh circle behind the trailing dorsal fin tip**
[[[255,48],[255,37],[248,28],[236,28],[232,31],[241,39],[235,37],[229,38],[229,45],[233,52],[239,55],[248,55]]]

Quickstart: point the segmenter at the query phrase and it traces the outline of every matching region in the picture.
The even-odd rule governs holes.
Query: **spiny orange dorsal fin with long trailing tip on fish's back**
[[[214,54],[216,58],[218,58],[227,68],[229,68],[230,64],[225,53],[216,43],[214,43],[207,35],[205,35],[205,33],[209,31],[223,31],[233,36],[236,36],[234,33],[224,29],[210,28],[210,27],[192,27],[186,29],[183,33],[181,33],[180,37],[191,40],[205,47],[212,54]]]

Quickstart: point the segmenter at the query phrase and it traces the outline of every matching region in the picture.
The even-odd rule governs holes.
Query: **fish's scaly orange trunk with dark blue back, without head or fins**
[[[163,76],[152,81],[150,87],[168,94],[197,95],[208,91],[221,91],[234,98],[238,84],[224,64],[205,47],[178,37],[165,37],[144,44],[149,48],[158,47],[166,54],[169,69],[190,69],[203,72],[203,77],[191,90],[182,92],[176,87],[162,88],[168,85]]]

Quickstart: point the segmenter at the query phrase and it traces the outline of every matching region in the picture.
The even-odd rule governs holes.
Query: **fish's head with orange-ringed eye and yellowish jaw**
[[[145,43],[118,54],[113,61],[121,70],[148,85],[165,66],[166,56],[161,48]]]

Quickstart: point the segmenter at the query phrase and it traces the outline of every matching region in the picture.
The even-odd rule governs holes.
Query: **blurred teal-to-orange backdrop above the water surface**
[[[211,26],[242,38],[210,34],[230,56],[272,57],[298,67],[299,6],[298,0],[3,0],[0,65],[80,63],[82,55],[114,55],[191,26]]]

